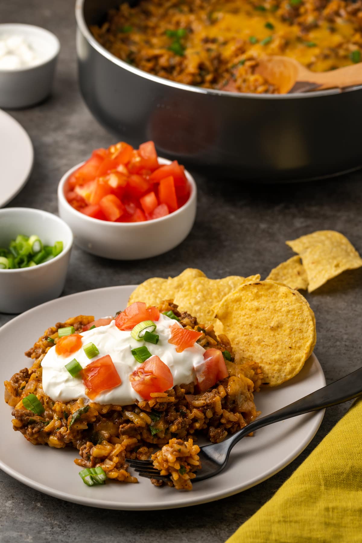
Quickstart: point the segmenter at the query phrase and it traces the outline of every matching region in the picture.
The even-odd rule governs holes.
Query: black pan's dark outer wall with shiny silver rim
[[[118,4],[117,2],[116,4]],[[187,168],[240,181],[302,180],[362,165],[362,87],[256,96],[209,91],[116,59],[87,24],[114,1],[78,0],[79,83],[100,123],[134,146],[153,140]]]

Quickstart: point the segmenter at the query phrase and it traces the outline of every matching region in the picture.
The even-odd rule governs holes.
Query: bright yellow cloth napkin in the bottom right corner
[[[362,399],[227,543],[362,542]]]

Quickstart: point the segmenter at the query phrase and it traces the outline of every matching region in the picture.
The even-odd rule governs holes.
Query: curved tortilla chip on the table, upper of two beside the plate
[[[360,268],[362,259],[348,239],[334,230],[319,230],[285,242],[302,257],[313,292],[342,271]]]

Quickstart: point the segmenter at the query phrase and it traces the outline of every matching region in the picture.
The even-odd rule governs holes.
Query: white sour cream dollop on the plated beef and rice
[[[155,333],[160,336],[157,345],[147,343],[143,340],[137,341],[132,338],[130,330],[119,330],[115,320],[106,326],[99,326],[81,332],[82,348],[73,352],[68,357],[57,355],[55,346],[49,349],[42,360],[43,368],[43,390],[54,401],[67,402],[78,398],[88,398],[85,394],[85,386],[80,377],[72,377],[66,370],[65,365],[75,358],[82,368],[90,362],[105,355],[110,355],[115,364],[122,384],[110,390],[100,393],[93,401],[97,403],[113,403],[116,405],[130,405],[135,400],[142,401],[142,397],[132,388],[130,382],[131,373],[139,367],[131,353],[131,349],[146,345],[151,355],[157,355],[162,362],[170,369],[174,386],[182,383],[195,382],[195,367],[204,362],[205,349],[198,343],[188,347],[182,352],[177,352],[175,345],[168,343],[171,337],[170,326],[177,321],[161,314],[160,319],[155,321],[157,325]],[[177,323],[179,324],[179,323]],[[179,325],[181,327],[181,325]],[[99,355],[87,358],[83,346],[87,343],[94,343],[99,350]]]

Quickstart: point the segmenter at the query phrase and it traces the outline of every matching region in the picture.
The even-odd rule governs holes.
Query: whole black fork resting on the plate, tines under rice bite
[[[319,409],[325,409],[337,403],[352,400],[361,394],[362,368],[359,368],[338,381],[328,384],[328,386],[322,387],[312,392],[312,394],[308,394],[308,396],[304,396],[300,400],[290,403],[290,405],[278,409],[274,413],[270,413],[270,415],[263,416],[263,418],[251,422],[225,441],[201,447],[199,457],[202,469],[197,472],[192,482],[203,481],[220,473],[227,464],[231,449],[244,435],[259,430],[263,426],[268,426],[273,422],[290,419],[293,416],[303,415],[312,411],[319,411]],[[168,476],[160,475],[160,471],[154,468],[151,460],[128,460],[128,462],[141,477],[158,479],[158,481],[168,481],[169,479]]]

